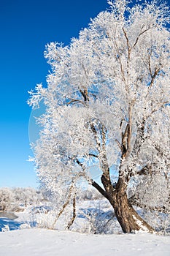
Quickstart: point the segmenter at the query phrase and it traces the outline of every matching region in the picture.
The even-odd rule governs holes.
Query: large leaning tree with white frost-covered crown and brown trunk
[[[123,232],[152,232],[132,203],[146,186],[152,207],[158,192],[159,207],[169,205],[169,9],[160,1],[108,3],[69,46],[47,45],[47,88],[36,86],[29,100],[45,104],[34,160],[56,196],[85,178],[109,200]],[[139,203],[150,204],[150,194]]]

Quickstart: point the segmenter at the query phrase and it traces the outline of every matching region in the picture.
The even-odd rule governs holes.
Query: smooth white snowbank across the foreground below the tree
[[[92,235],[45,229],[0,233],[2,256],[169,256],[170,236],[146,233]]]

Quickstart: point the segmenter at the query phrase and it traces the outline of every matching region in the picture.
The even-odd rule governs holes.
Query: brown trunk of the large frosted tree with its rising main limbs
[[[129,122],[125,127],[125,132],[122,132],[122,143],[120,149],[122,152],[120,169],[119,169],[119,178],[115,187],[112,186],[110,179],[110,170],[107,161],[107,150],[106,150],[106,136],[107,129],[104,124],[101,124],[101,138],[98,138],[98,132],[95,125],[91,124],[91,129],[96,138],[96,145],[98,145],[98,159],[100,162],[100,167],[102,170],[101,183],[104,186],[104,189],[101,188],[96,182],[92,181],[91,184],[95,187],[98,192],[100,192],[104,197],[109,200],[112,207],[115,211],[115,216],[117,221],[120,223],[124,233],[131,233],[133,231],[143,230],[149,233],[153,233],[152,227],[147,224],[147,222],[142,219],[139,214],[134,210],[133,206],[128,200],[126,191],[128,187],[128,182],[131,177],[131,170],[128,170],[128,167],[123,167],[123,164],[127,162],[128,154],[130,152],[130,142],[131,142],[131,110],[133,103],[128,108],[129,112]],[[139,135],[139,138],[142,137],[143,127]],[[138,132],[138,133],[139,133]],[[137,140],[136,140],[137,141]],[[138,141],[136,142],[138,143]],[[126,161],[125,161],[126,160]]]

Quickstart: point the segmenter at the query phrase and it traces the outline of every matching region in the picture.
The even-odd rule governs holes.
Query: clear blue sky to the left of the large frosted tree
[[[69,44],[107,0],[0,1],[0,187],[38,187],[28,162],[28,90],[46,85],[48,42]]]

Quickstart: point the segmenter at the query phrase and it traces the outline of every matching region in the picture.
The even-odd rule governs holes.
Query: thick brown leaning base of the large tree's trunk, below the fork
[[[131,203],[128,202],[126,193],[115,193],[115,200],[109,200],[112,204],[117,221],[120,223],[124,233],[131,233],[137,230],[143,230],[153,233],[154,230],[147,222],[136,213]]]

